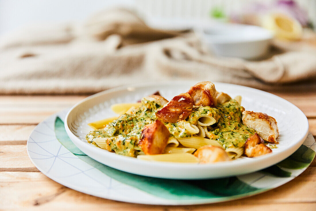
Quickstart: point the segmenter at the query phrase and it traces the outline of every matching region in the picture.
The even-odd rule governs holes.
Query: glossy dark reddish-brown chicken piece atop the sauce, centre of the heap
[[[193,100],[188,93],[175,96],[156,112],[156,117],[164,122],[178,122],[189,116],[192,112]]]

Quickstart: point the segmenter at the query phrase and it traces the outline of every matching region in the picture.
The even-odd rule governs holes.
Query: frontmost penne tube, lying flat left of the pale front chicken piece
[[[138,155],[137,159],[148,161],[178,162],[178,163],[198,163],[197,157],[190,153],[171,153],[159,155]]]

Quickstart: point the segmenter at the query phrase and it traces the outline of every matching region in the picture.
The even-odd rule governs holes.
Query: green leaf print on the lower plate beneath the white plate
[[[237,176],[207,180],[174,180],[139,176],[113,169],[88,157],[72,143],[64,128],[64,122],[59,117],[55,120],[55,134],[58,141],[71,153],[112,179],[169,200],[198,200],[229,196],[238,198],[273,188],[272,186],[253,187]],[[314,157],[314,150],[301,145],[291,156],[261,172],[272,177],[291,177],[291,169],[307,168]]]

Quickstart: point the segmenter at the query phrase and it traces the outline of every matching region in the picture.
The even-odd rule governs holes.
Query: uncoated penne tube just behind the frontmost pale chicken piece
[[[201,137],[196,137],[196,136],[178,138],[178,141],[180,142],[180,144],[182,144],[185,147],[195,148],[195,149],[198,149],[204,145],[213,145],[213,146],[222,147],[222,145],[219,144],[216,140],[201,138]]]

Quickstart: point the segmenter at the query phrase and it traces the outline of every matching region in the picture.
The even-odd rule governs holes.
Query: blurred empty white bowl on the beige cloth
[[[220,56],[257,59],[269,51],[273,35],[251,25],[217,24],[200,29],[202,42]]]

